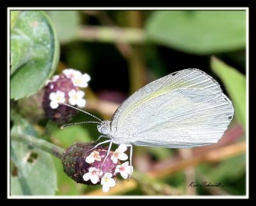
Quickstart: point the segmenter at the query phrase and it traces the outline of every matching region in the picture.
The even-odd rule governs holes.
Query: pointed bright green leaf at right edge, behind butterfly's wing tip
[[[211,59],[212,70],[225,85],[234,104],[235,115],[246,129],[246,78],[235,68],[228,66],[220,59]]]

